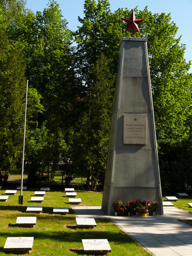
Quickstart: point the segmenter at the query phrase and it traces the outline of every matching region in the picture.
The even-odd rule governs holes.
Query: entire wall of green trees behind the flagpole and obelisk
[[[78,17],[80,25],[74,32],[54,0],[36,14],[25,9],[23,0],[0,1],[0,159],[5,163],[9,159],[9,168],[4,164],[2,171],[11,172],[19,165],[22,147],[17,141],[22,133],[27,78],[29,181],[36,182],[37,174],[47,173],[50,183],[59,161],[72,161],[87,170],[89,189],[102,185],[119,41],[132,33],[124,32],[126,24],[121,19],[131,16],[128,7],[112,12],[107,0],[85,0],[83,17]],[[170,187],[171,174],[180,166],[178,183],[189,187],[192,179],[186,169],[191,167],[188,161],[184,163],[184,154],[190,155],[191,75],[190,63],[184,59],[185,45],[176,38],[178,28],[170,14],[153,14],[147,7],[134,11],[136,18],[144,18],[139,24],[141,33],[134,31],[133,36],[147,37],[162,184]],[[173,159],[181,148],[186,151],[182,150],[180,161]]]

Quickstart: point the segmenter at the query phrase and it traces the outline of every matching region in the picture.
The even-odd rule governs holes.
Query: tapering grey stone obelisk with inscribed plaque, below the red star
[[[123,37],[102,209],[135,199],[157,200],[163,215],[147,39]]]

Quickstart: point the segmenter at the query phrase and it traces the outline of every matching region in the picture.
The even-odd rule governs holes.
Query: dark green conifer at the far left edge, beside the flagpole
[[[22,153],[25,114],[25,64],[17,44],[0,28],[0,159],[4,176],[17,168]]]

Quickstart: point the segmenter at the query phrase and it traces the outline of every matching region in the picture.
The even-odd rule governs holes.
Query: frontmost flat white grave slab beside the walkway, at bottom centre
[[[106,253],[111,251],[107,239],[82,239],[82,246],[86,253]]]

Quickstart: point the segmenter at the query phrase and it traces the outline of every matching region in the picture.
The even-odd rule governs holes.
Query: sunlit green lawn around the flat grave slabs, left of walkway
[[[0,190],[4,195],[5,190]],[[10,196],[7,202],[0,202],[0,255],[13,255],[4,253],[7,237],[34,237],[32,256],[61,256],[61,255],[86,255],[83,253],[81,239],[108,239],[112,256],[145,256],[152,255],[135,243],[127,234],[106,219],[96,219],[97,227],[81,229],[76,227],[75,215],[68,204],[68,198],[62,191],[46,192],[43,203],[31,203],[34,191],[23,191],[23,205],[18,204],[17,191],[15,196]],[[94,192],[77,191],[77,198],[82,204],[89,206],[101,205],[102,194]],[[27,206],[43,206],[41,214],[26,213]],[[69,207],[69,214],[65,216],[52,214],[53,207]],[[16,227],[16,217],[37,217],[34,228]],[[20,254],[17,254],[20,255]]]

